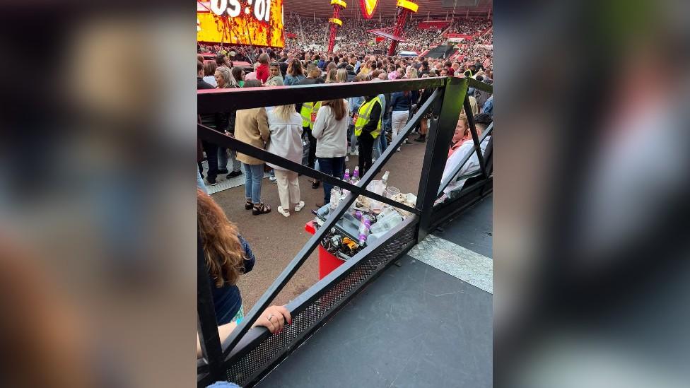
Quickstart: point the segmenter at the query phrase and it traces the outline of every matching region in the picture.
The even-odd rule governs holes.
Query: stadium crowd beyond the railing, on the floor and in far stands
[[[309,23],[308,20],[313,23]],[[209,60],[199,55],[197,86],[199,89],[296,86],[435,76],[472,77],[485,83],[493,83],[492,53],[491,49],[484,46],[484,43],[472,45],[472,41],[470,41],[470,44],[462,46],[453,57],[448,59],[421,56],[411,58],[388,57],[384,54],[368,54],[368,51],[375,46],[362,45],[362,42],[372,37],[367,33],[367,30],[381,28],[384,25],[390,25],[389,23],[390,20],[348,20],[345,25],[352,25],[353,28],[344,28],[341,31],[341,35],[339,35],[341,36],[341,40],[339,40],[341,46],[337,47],[335,53],[327,53],[320,47],[310,48],[313,47],[311,45],[318,45],[315,42],[323,40],[324,34],[327,32],[327,23],[324,23],[324,20],[314,22],[311,18],[298,20],[296,17],[286,22],[286,28],[297,26],[297,28],[306,30],[304,36],[308,35],[312,40],[296,45],[286,44],[286,47],[282,49],[199,45],[199,54],[210,53],[214,54],[214,57]],[[490,23],[487,23],[486,20],[472,19],[450,26],[451,29],[463,28],[463,31],[472,32],[475,35],[486,33],[490,27]],[[414,36],[414,38],[409,38],[409,42],[413,45],[416,42],[428,42],[428,39],[434,35],[440,35],[440,30],[423,30],[417,28],[416,25],[408,28],[407,31],[409,36]],[[296,35],[296,41],[300,41],[300,37],[303,36],[302,31],[295,32],[293,30],[292,33]],[[486,42],[486,40],[482,42]],[[380,45],[386,47],[387,42],[381,42]],[[252,67],[234,66],[237,61],[249,62]],[[208,127],[231,134],[260,148],[267,146],[269,137],[277,139],[281,136],[277,129],[281,125],[283,127],[286,125],[298,127],[304,144],[302,140],[297,143],[298,139],[286,138],[283,139],[286,145],[274,151],[276,153],[285,152],[286,154],[283,156],[291,157],[296,162],[341,177],[348,155],[357,155],[360,172],[362,174],[366,172],[376,158],[385,151],[388,143],[402,130],[411,114],[414,114],[415,110],[423,104],[429,95],[430,92],[426,91],[425,93],[425,90],[412,90],[404,95],[396,96],[396,93],[393,93],[393,95],[377,96],[380,98],[380,112],[378,114],[382,117],[381,136],[366,136],[366,134],[356,133],[355,121],[358,110],[362,105],[369,102],[366,100],[366,96],[349,98],[344,107],[340,105],[329,107],[320,104],[297,105],[293,107],[292,112],[294,114],[281,111],[282,116],[280,117],[276,116],[276,112],[274,112],[276,108],[267,108],[262,112],[259,110],[252,111],[250,117],[247,117],[247,112],[242,111],[242,114],[240,112],[218,112],[200,117],[200,119],[201,123]],[[479,90],[470,90],[470,95],[473,114],[486,113],[491,117],[493,114],[491,95]],[[309,119],[310,114],[312,114],[311,119]],[[344,119],[343,114],[346,114],[349,119]],[[332,116],[337,117],[337,120]],[[271,123],[271,120],[281,124]],[[291,124],[288,123],[290,120],[292,120]],[[343,141],[344,144],[325,146],[326,148],[320,147],[320,143],[334,141],[334,139],[327,136],[327,140],[323,140],[315,136],[315,134],[324,133],[324,128],[317,128],[318,125],[329,127],[333,126],[334,122],[341,122],[341,120],[348,122],[342,127],[345,133],[338,135],[346,139]],[[247,128],[247,125],[250,128]],[[419,134],[415,139],[416,141],[423,142],[426,140],[426,129],[426,119],[424,119],[415,129]],[[467,140],[466,132],[464,131],[462,134],[465,140]],[[407,142],[407,139],[405,141]],[[274,143],[276,141],[271,141],[271,144]],[[304,158],[303,146],[305,147]],[[324,151],[324,149],[329,151]],[[333,150],[337,150],[337,152]],[[208,162],[207,169],[204,169],[201,164],[204,155],[206,155]],[[228,163],[229,161],[232,163]],[[301,209],[304,206],[303,202],[300,201],[299,187],[296,187],[296,176],[293,177],[288,174],[290,175],[288,177],[279,167],[272,167],[269,182],[278,183],[279,186],[279,193],[281,194],[279,213],[283,216],[289,216],[290,208]],[[269,170],[269,167],[266,168]],[[206,182],[204,182],[204,175]],[[261,200],[264,177],[264,163],[261,160],[236,154],[224,148],[216,148],[209,143],[199,142],[199,175],[197,176],[199,187],[205,189],[206,184],[216,185],[219,175],[227,175],[226,179],[244,175],[247,209],[252,209],[256,215],[271,211],[271,206],[263,204]],[[312,182],[312,188],[317,189],[319,186],[320,182]],[[329,199],[329,190],[330,187],[324,185],[324,201]]]

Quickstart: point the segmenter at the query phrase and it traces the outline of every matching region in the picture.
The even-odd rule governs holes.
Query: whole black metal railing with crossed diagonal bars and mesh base
[[[437,188],[441,184],[446,156],[463,105],[469,118],[469,127],[474,139],[474,151],[476,151],[481,165],[480,179],[467,189],[476,192],[476,187],[484,188],[491,184],[492,175],[489,168],[491,152],[481,154],[480,141],[477,139],[472,111],[469,109],[467,98],[469,86],[489,93],[492,91],[491,86],[471,78],[418,78],[379,83],[336,83],[198,91],[197,109],[199,114],[211,114],[254,107],[333,100],[361,95],[380,95],[401,90],[435,89],[431,97],[411,117],[397,138],[392,139],[380,158],[356,185],[281,158],[261,148],[250,146],[209,127],[198,125],[198,136],[204,141],[216,143],[219,146],[264,160],[264,162],[328,182],[350,192],[344,201],[341,201],[339,206],[329,213],[324,225],[316,230],[315,234],[310,237],[274,283],[269,286],[264,295],[259,298],[252,310],[246,314],[245,319],[238,324],[238,327],[222,344],[218,339],[216,329],[211,283],[208,281],[204,252],[199,249],[197,257],[199,307],[197,310],[199,314],[199,339],[203,353],[203,357],[197,362],[197,384],[199,387],[205,387],[216,380],[230,380],[243,386],[255,384],[271,370],[273,365],[279,363],[319,329],[324,321],[332,317],[350,298],[356,295],[363,285],[378,276],[387,264],[392,263],[406,253],[416,242],[423,240],[428,235],[433,225],[438,221],[438,217],[434,216],[433,205],[440,192]],[[423,119],[424,114],[430,110],[432,113],[432,117],[429,119],[431,125],[428,129],[426,153],[424,154],[416,206],[411,208],[368,191],[367,185],[390,160],[394,150],[402,144],[407,135]],[[490,130],[487,130],[484,136],[489,133]],[[381,134],[381,136],[385,135]],[[469,157],[464,162],[468,159]],[[462,164],[464,163],[461,163],[461,166]],[[444,183],[448,184],[448,182]],[[441,190],[443,188],[440,187]],[[464,191],[463,189],[462,192]],[[474,201],[478,201],[481,196],[487,193],[486,190],[482,189],[479,195],[474,196]],[[386,239],[382,238],[368,245],[290,302],[287,307],[293,317],[292,324],[287,325],[280,334],[270,335],[269,331],[263,327],[257,327],[250,331],[252,324],[259,318],[259,314],[271,304],[276,295],[314,252],[324,235],[337,223],[359,195],[408,211],[411,216],[391,230]],[[447,209],[444,213],[452,213],[448,211],[449,206],[453,207],[452,204],[452,202],[446,204]],[[453,210],[457,210],[457,207]],[[202,279],[204,276],[206,280]]]

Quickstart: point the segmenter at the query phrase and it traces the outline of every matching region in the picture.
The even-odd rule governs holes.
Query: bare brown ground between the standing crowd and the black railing
[[[416,139],[416,136],[416,134],[409,136],[410,141]],[[426,143],[411,141],[411,144],[402,146],[401,152],[393,155],[382,168],[382,172],[390,171],[388,180],[390,186],[399,188],[403,193],[417,194],[425,149]],[[358,158],[351,155],[346,167],[352,171],[357,163]],[[378,178],[382,172],[378,174]],[[262,184],[262,200],[271,206],[272,210],[269,214],[253,216],[251,211],[245,210],[244,186],[212,195],[226,211],[230,221],[237,223],[240,233],[250,243],[257,257],[253,271],[242,275],[238,283],[245,313],[251,310],[259,297],[281,274],[310,237],[305,232],[304,226],[314,218],[310,210],[316,208],[315,204],[318,201],[323,200],[323,189],[322,186],[312,189],[308,179],[310,178],[300,177],[300,194],[302,200],[305,201],[305,208],[288,218],[278,213],[278,188],[268,179],[264,179]],[[317,256],[317,250],[315,250],[283,288],[274,300],[274,304],[285,304],[318,281]]]

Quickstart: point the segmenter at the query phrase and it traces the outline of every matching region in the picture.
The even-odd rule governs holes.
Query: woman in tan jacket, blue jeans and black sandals
[[[261,81],[245,81],[245,88],[259,88]],[[269,127],[266,109],[263,107],[237,111],[235,121],[235,138],[258,148],[264,148],[269,141]],[[245,170],[245,208],[252,209],[252,214],[271,212],[271,206],[261,201],[261,182],[264,179],[263,160],[252,158],[242,153],[237,154]]]

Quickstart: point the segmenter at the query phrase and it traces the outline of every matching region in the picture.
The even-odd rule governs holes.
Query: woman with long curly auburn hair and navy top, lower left
[[[237,322],[244,317],[237,282],[242,274],[252,271],[256,258],[237,226],[201,189],[197,189],[197,227],[209,269],[218,325]]]

